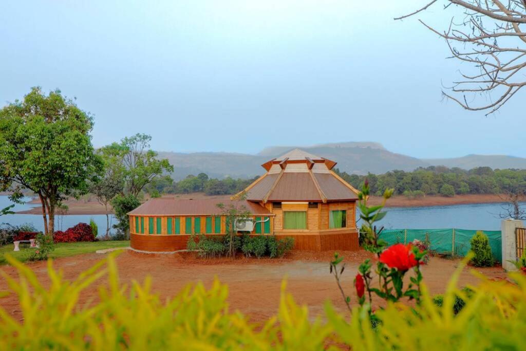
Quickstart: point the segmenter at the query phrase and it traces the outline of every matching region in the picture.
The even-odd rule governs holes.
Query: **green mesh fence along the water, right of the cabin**
[[[490,240],[493,257],[502,262],[502,239],[500,230],[482,230]],[[380,238],[389,245],[408,244],[414,239],[428,242],[431,250],[439,254],[465,256],[470,248],[470,240],[477,230],[468,229],[384,229]]]

